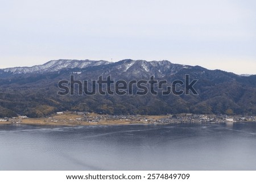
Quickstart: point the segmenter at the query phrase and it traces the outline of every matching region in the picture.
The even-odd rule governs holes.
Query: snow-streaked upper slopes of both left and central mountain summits
[[[189,69],[191,66],[172,64],[170,61],[144,61],[144,60],[122,60],[118,62],[91,61],[91,60],[53,60],[43,65],[32,67],[11,67],[0,69],[0,74],[27,74],[27,73],[52,73],[63,69],[84,69],[86,67],[104,66],[102,74],[129,74],[138,77],[154,74],[164,77],[173,75],[181,69]]]

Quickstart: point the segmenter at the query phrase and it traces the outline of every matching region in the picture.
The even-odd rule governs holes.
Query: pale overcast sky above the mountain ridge
[[[0,68],[131,58],[256,74],[255,0],[0,2]]]

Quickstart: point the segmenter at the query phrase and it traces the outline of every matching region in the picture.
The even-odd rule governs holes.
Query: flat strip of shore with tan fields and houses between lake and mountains
[[[98,115],[96,113],[61,112],[61,115],[50,117],[28,118],[19,116],[6,118],[1,124],[27,124],[27,125],[56,125],[56,126],[90,126],[90,125],[131,125],[131,124],[175,124],[175,123],[205,123],[205,124],[234,124],[256,122],[256,116],[226,116],[226,115],[194,115],[183,113],[178,115]]]

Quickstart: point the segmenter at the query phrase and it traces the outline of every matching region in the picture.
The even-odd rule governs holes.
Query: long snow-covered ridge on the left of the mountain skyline
[[[91,61],[91,60],[53,60],[43,65],[32,67],[11,67],[1,69],[5,73],[25,74],[25,73],[51,73],[61,69],[85,68],[89,66],[98,66],[110,64],[108,61]]]

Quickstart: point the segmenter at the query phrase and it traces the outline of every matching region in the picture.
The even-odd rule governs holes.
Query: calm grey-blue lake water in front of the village
[[[256,124],[0,125],[0,170],[256,170]]]

